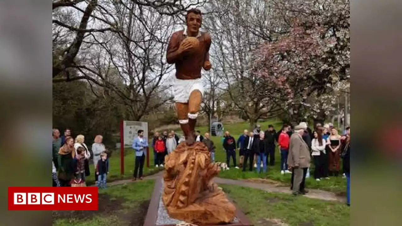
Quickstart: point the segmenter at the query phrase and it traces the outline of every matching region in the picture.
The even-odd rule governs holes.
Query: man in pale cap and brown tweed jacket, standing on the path
[[[305,190],[305,180],[307,169],[310,167],[310,149],[302,138],[305,129],[304,125],[296,125],[289,142],[287,164],[292,169],[293,195],[304,195],[308,192]]]

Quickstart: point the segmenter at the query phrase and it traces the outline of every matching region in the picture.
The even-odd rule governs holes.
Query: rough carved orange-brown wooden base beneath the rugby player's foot
[[[210,162],[205,144],[182,142],[165,163],[162,201],[170,217],[197,225],[232,222],[236,208],[211,182],[219,166]]]

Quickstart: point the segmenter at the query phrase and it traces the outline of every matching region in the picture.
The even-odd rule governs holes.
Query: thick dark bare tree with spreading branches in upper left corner
[[[119,35],[123,35],[121,33],[123,25],[109,11],[111,4],[126,9],[132,5],[148,9],[152,8],[155,10],[155,13],[160,15],[176,16],[188,8],[199,6],[202,3],[203,0],[189,0],[186,3],[183,3],[181,0],[53,0],[53,24],[62,27],[65,32],[70,32],[74,37],[68,44],[56,52],[57,55],[53,56],[53,58],[57,59],[53,61],[53,78],[61,72],[65,72],[64,80],[67,81],[82,78],[91,79],[86,76],[70,78],[68,69],[75,67],[76,57],[87,37],[95,33],[118,33]],[[55,13],[62,10],[70,11],[76,18],[70,21],[60,20],[55,16]],[[146,21],[142,22],[146,23]],[[54,33],[55,28],[53,28]],[[92,82],[95,81],[93,80]]]

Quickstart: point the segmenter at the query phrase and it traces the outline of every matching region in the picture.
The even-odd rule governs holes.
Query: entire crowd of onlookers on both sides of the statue
[[[139,130],[138,136],[133,140],[132,148],[135,150],[135,164],[133,181],[143,179],[143,168],[146,158],[148,139],[144,137],[144,131]],[[203,142],[211,154],[211,161],[215,162],[214,142],[209,133],[201,135],[195,132],[196,141]],[[53,186],[68,187],[84,183],[90,176],[90,160],[94,167],[96,186],[106,187],[106,178],[109,173],[109,154],[102,143],[103,137],[97,135],[94,138],[91,150],[84,143],[85,137],[81,134],[74,139],[71,130],[66,129],[60,136],[58,129],[53,129],[53,161],[52,179]],[[164,166],[164,157],[172,152],[176,146],[185,141],[184,136],[178,136],[173,130],[156,132],[151,141],[154,152],[155,167]],[[307,123],[301,122],[293,128],[283,125],[280,131],[276,131],[273,125],[269,125],[266,131],[262,131],[257,125],[253,131],[244,130],[236,139],[226,131],[222,138],[222,145],[226,152],[226,164],[242,171],[266,173],[267,165],[275,165],[275,149],[278,146],[280,155],[281,174],[291,174],[291,189],[293,194],[305,194],[305,179],[310,171],[310,158],[314,163],[314,179],[321,181],[338,177],[340,174],[340,159],[343,158],[342,173],[347,179],[347,203],[350,203],[350,127],[347,127],[343,135],[328,123],[322,126],[317,123],[312,131]],[[239,165],[236,164],[236,153],[239,156]]]

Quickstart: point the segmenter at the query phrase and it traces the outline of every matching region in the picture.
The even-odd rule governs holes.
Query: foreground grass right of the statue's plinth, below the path
[[[277,225],[280,219],[289,226],[344,226],[350,224],[349,207],[342,203],[268,193],[234,185],[220,185],[234,199],[255,226]]]

